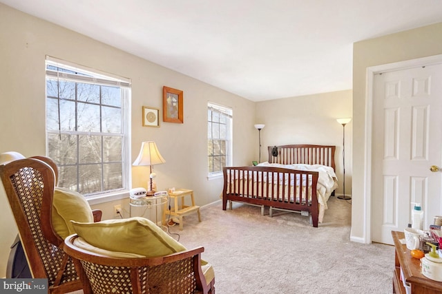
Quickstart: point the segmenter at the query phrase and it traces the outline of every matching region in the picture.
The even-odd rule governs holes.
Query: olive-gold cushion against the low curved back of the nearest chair
[[[146,218],[72,222],[75,232],[89,244],[109,251],[148,258],[186,250],[179,242]]]

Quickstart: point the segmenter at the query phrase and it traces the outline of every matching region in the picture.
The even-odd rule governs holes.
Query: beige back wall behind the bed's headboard
[[[352,90],[258,102],[256,121],[265,124],[261,130],[261,161],[268,160],[269,145],[336,145],[340,186],[336,193],[343,193],[343,127],[336,118],[351,117]],[[345,193],[351,194],[351,188],[352,122],[345,126]]]

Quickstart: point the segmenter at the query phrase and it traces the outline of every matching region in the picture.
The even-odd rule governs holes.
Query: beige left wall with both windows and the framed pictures
[[[45,56],[50,55],[132,79],[132,160],[142,141],[157,143],[166,159],[164,165],[155,167],[158,189],[193,189],[199,205],[220,199],[222,178],[206,178],[207,101],[233,109],[234,164],[244,165],[256,158],[255,103],[3,4],[0,28],[0,153],[46,153]],[[184,124],[161,122],[159,128],[142,127],[142,105],[162,109],[164,85],[184,91]],[[133,187],[146,187],[146,171],[133,168]],[[113,205],[119,202],[128,213],[127,200],[93,207],[103,209],[104,218],[113,218]],[[17,229],[3,187],[0,206],[4,208],[0,213],[0,277],[4,277]],[[202,216],[203,220],[208,217]]]

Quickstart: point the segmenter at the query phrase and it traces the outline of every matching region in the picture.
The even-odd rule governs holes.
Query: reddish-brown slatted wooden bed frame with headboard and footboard
[[[278,156],[273,156],[274,148],[278,149]],[[307,164],[307,165],[326,165],[336,169],[335,151],[336,146],[331,145],[281,145],[269,146],[269,162],[280,163],[283,165]],[[264,215],[265,206],[270,207],[270,216],[272,209],[300,212],[302,215],[311,216],[313,227],[318,227],[319,204],[316,194],[316,185],[318,183],[317,171],[299,171],[294,169],[284,169],[280,167],[224,167],[224,189],[222,191],[222,210],[232,209],[232,201],[245,202],[251,205],[261,207],[261,214]],[[260,178],[273,178],[275,182],[285,182],[287,178],[309,178],[307,187],[287,187],[281,188],[280,185],[267,184],[267,181],[256,181]],[[255,182],[256,184],[253,184]],[[310,199],[310,201],[290,201],[287,200],[287,191],[296,189],[300,199]],[[305,193],[310,191],[311,195]],[[308,214],[307,214],[308,213]]]

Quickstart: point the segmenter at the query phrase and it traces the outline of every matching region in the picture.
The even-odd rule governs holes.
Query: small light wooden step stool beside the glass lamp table
[[[184,205],[184,197],[190,196],[192,205]],[[180,220],[180,230],[182,230],[182,217],[188,215],[189,213],[198,213],[198,220],[201,222],[200,207],[195,205],[195,199],[193,198],[193,190],[189,189],[177,189],[173,193],[169,193],[171,200],[173,199],[173,208],[169,210],[167,203],[164,204],[163,209],[163,224],[166,224],[166,215],[176,216]],[[180,199],[180,204],[178,204],[178,199]]]

